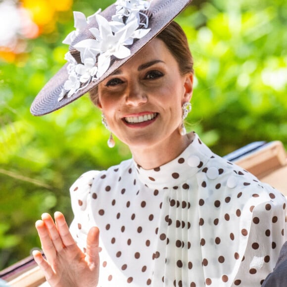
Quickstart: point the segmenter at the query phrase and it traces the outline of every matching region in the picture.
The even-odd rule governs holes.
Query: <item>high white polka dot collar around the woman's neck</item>
[[[212,156],[212,151],[195,134],[191,144],[178,157],[162,166],[145,170],[134,163],[139,180],[148,188],[176,189],[201,170]]]

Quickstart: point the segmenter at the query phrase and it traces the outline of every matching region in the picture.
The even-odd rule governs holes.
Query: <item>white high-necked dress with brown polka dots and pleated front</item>
[[[79,246],[100,229],[101,287],[259,287],[286,240],[285,197],[197,135],[163,166],[123,161],[70,192]]]

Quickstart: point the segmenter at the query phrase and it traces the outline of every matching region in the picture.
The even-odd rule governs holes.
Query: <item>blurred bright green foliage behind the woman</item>
[[[75,0],[90,15],[111,0]],[[194,57],[189,129],[220,155],[254,141],[287,144],[287,2],[194,0],[177,18]],[[69,187],[87,170],[129,158],[108,132],[88,96],[43,117],[30,104],[64,64],[72,12],[57,30],[29,42],[27,57],[0,61],[0,269],[40,247],[34,223],[62,211],[70,222]]]

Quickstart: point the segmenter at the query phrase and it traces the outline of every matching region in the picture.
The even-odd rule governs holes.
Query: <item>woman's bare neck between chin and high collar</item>
[[[147,147],[131,147],[133,158],[144,169],[153,169],[178,157],[194,139],[194,133],[174,135],[160,143]]]

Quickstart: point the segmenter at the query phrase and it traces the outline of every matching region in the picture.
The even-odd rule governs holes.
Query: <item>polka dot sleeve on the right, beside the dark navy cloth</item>
[[[255,206],[247,247],[234,286],[260,287],[273,271],[286,240],[285,197]]]

